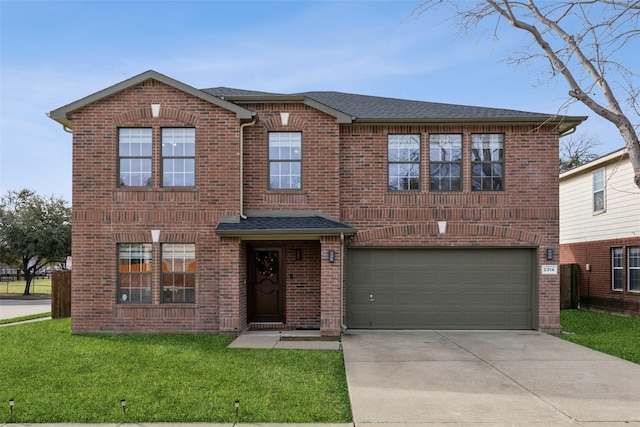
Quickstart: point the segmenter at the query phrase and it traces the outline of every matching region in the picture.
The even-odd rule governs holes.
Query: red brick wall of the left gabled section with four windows
[[[160,117],[151,117],[151,103]],[[220,216],[239,211],[238,125],[235,114],[153,80],[74,113],[74,332],[218,332],[218,265],[232,254],[214,230]],[[197,187],[161,188],[160,130],[182,126],[196,128]],[[116,187],[119,127],[153,129],[152,188]],[[158,262],[153,304],[116,304],[117,244],[151,242],[152,229],[161,242],[196,244],[196,304],[160,304]]]

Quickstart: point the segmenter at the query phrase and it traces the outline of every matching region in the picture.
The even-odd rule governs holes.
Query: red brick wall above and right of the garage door
[[[551,126],[343,125],[341,133],[341,220],[358,229],[352,245],[538,247],[540,265],[558,264],[558,136]],[[390,133],[420,134],[420,191],[387,191]],[[462,191],[428,191],[430,133],[463,135]],[[472,133],[505,134],[504,191],[471,191]],[[438,221],[447,221],[446,234],[438,234]],[[555,260],[544,258],[547,248]],[[559,328],[559,280],[539,275],[541,329]]]

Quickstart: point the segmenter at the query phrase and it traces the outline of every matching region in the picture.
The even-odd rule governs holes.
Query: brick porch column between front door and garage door
[[[340,322],[340,237],[320,240],[320,334],[339,336]],[[333,262],[329,253],[333,251]]]

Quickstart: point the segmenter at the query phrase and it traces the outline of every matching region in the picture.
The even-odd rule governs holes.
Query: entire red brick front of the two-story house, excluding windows
[[[152,117],[150,105],[161,105]],[[558,253],[558,130],[554,125],[358,125],[303,103],[246,103],[256,122],[244,129],[244,210],[314,210],[358,230],[353,238],[278,237],[286,262],[286,324],[337,335],[342,329],[343,249],[366,247],[529,247]],[[279,113],[290,113],[283,126]],[[256,241],[216,235],[216,224],[240,215],[240,125],[236,115],[150,79],[71,115],[73,122],[72,328],[74,333],[151,332],[237,334],[247,322],[247,253]],[[119,127],[152,128],[150,188],[118,188]],[[195,188],[161,185],[160,131],[195,127]],[[268,190],[270,131],[300,131],[302,190]],[[472,192],[471,161],[463,156],[463,189],[429,192],[428,136],[504,133],[505,191]],[[421,190],[387,190],[387,135],[420,134]],[[437,221],[448,222],[438,234]],[[152,243],[151,230],[160,230]],[[117,245],[152,243],[151,304],[119,304]],[[162,304],[160,248],[196,246],[196,302]],[[300,250],[301,259],[295,258]],[[328,253],[334,254],[333,262]],[[538,268],[539,272],[539,268]],[[540,329],[559,327],[559,277],[537,280]]]

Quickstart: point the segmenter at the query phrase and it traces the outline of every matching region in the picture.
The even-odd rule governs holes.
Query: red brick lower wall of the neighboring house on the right
[[[640,237],[560,245],[560,262],[578,264],[580,306],[640,317],[640,293],[627,289],[627,248],[640,246]],[[623,290],[612,289],[611,248],[623,248]],[[591,271],[586,265],[591,265]]]

